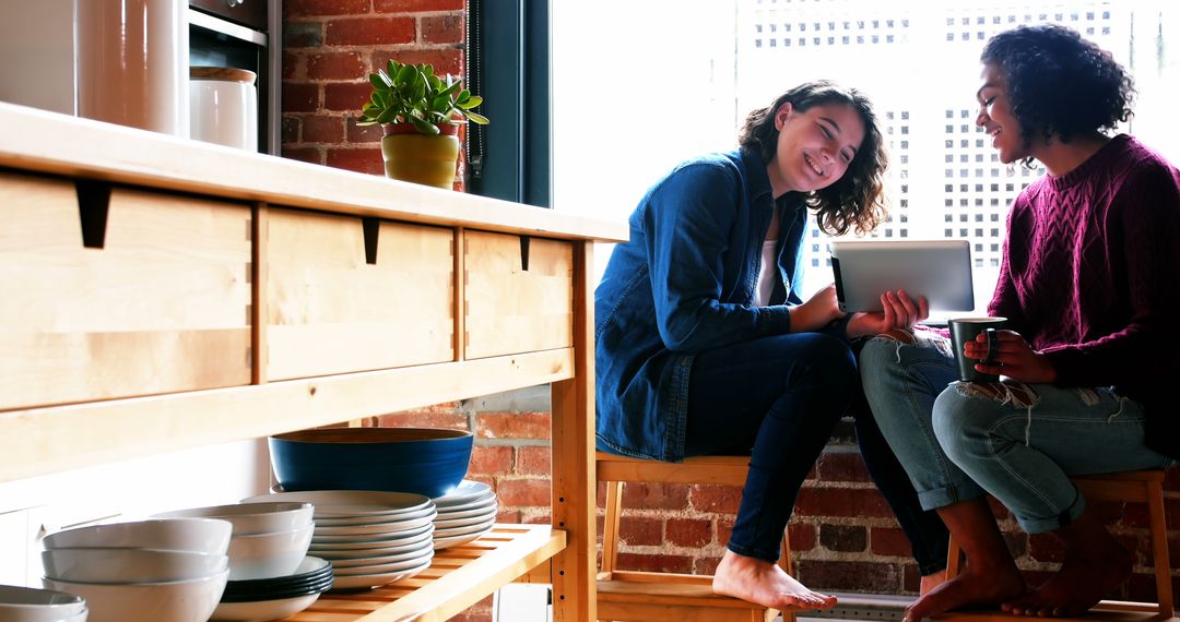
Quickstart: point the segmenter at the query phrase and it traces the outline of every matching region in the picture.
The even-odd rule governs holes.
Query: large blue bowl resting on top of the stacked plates
[[[386,490],[427,497],[463,482],[471,432],[433,428],[328,428],[273,436],[283,490]]]

